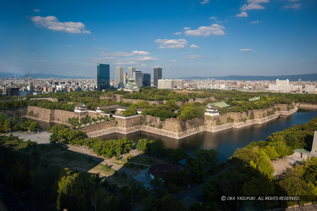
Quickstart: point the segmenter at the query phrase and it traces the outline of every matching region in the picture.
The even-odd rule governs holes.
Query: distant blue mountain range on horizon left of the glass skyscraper
[[[64,76],[64,75],[54,75],[54,74],[43,74],[43,73],[31,73],[31,74],[19,74],[16,72],[0,72],[0,78],[12,78],[13,75],[16,75],[19,78],[73,78],[73,79],[86,79],[83,76]],[[96,79],[94,77],[87,77],[87,79]]]

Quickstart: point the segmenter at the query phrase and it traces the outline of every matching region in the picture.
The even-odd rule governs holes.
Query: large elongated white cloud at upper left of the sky
[[[61,31],[71,34],[91,34],[90,31],[83,30],[85,25],[82,22],[60,22],[55,16],[31,16],[31,21],[38,27],[45,27],[53,31]]]

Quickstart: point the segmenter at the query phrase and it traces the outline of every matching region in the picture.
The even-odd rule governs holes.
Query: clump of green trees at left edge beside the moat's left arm
[[[8,131],[36,131],[36,129],[42,129],[38,121],[0,114],[0,133]]]

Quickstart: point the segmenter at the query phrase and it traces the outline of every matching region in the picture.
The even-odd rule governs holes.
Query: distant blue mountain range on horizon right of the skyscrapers
[[[210,77],[181,77],[177,79],[217,79],[217,80],[248,80],[248,81],[261,81],[261,80],[268,80],[268,81],[275,81],[276,79],[279,80],[286,80],[288,79],[289,81],[298,81],[299,78],[301,78],[301,81],[317,81],[317,73],[314,74],[303,74],[303,75],[285,75],[285,76],[223,76],[223,77],[218,77],[218,76],[210,76]]]

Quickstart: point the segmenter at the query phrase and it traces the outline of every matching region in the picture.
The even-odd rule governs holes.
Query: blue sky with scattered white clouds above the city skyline
[[[0,72],[163,78],[316,73],[314,0],[6,1]]]

